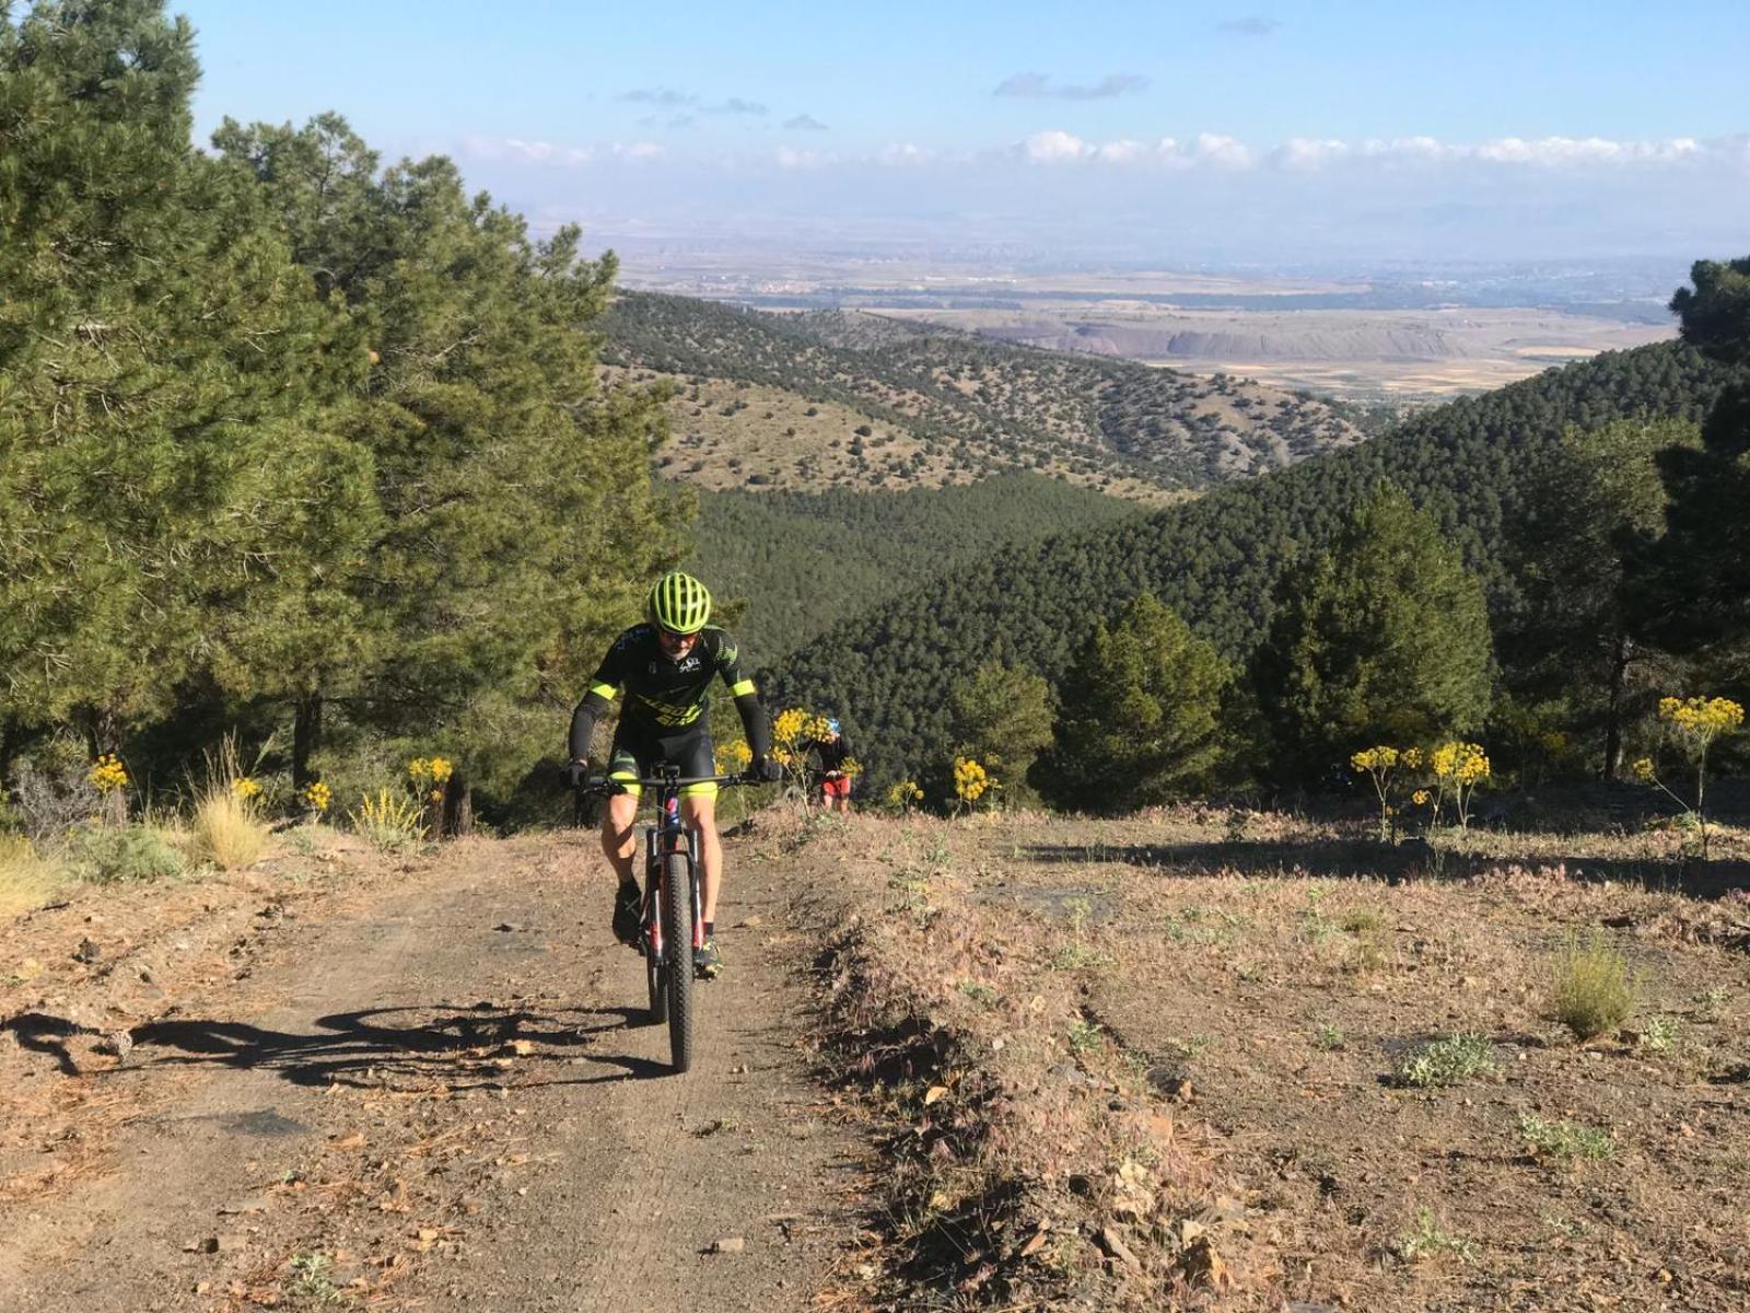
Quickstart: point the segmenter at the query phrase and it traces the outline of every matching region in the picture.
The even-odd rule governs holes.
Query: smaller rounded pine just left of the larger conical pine
[[[1204,783],[1222,758],[1232,671],[1178,613],[1141,593],[1096,625],[1062,693],[1041,786],[1055,802],[1122,812]]]

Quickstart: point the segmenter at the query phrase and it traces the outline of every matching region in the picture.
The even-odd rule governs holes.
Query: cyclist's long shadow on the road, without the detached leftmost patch
[[[609,1007],[556,1017],[488,1003],[369,1008],[318,1017],[310,1035],[236,1021],[154,1021],[131,1031],[130,1066],[220,1064],[275,1071],[294,1085],[453,1091],[667,1075],[663,1063],[598,1047],[598,1036],[642,1015]]]

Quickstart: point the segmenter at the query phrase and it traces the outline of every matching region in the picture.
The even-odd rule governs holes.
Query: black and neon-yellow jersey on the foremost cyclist
[[[620,713],[620,741],[668,741],[696,728],[709,744],[710,681],[719,678],[735,699],[742,716],[747,746],[756,758],[772,751],[772,725],[754,681],[742,674],[740,648],[728,630],[705,625],[698,641],[684,656],[670,656],[656,637],[654,625],[634,625],[607,649],[590,690],[570,716],[570,758],[581,762],[590,755],[595,721],[625,690],[626,700]],[[709,753],[705,755],[709,762]],[[649,762],[640,762],[649,767]]]

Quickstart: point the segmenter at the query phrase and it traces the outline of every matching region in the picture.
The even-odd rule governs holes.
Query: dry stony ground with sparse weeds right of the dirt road
[[[859,819],[789,858],[836,891],[824,1059],[886,1136],[873,1302],[1741,1308],[1741,832],[1698,879],[1638,833],[1237,828]]]

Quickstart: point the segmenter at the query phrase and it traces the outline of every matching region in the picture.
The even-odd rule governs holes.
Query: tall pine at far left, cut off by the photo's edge
[[[91,746],[234,667],[355,551],[352,362],[252,189],[189,145],[154,0],[0,23],[0,707]]]

